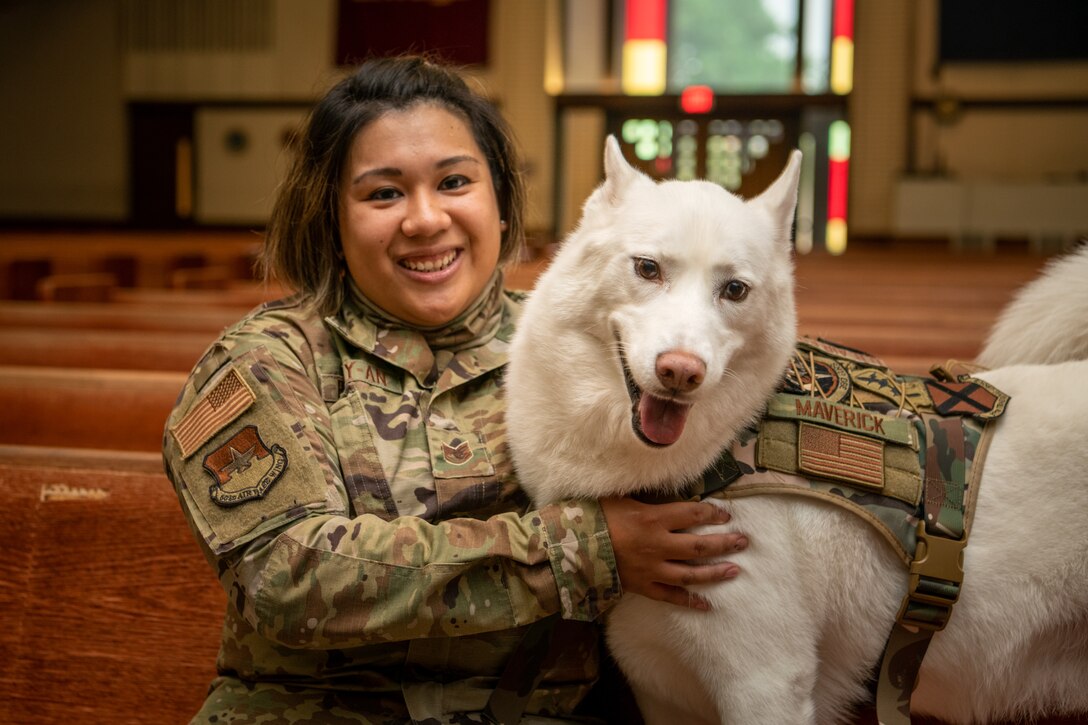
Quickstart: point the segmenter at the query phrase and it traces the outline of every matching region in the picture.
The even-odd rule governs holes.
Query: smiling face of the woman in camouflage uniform
[[[483,292],[503,230],[487,160],[459,116],[431,103],[379,116],[356,135],[341,189],[344,258],[372,303],[433,328]]]

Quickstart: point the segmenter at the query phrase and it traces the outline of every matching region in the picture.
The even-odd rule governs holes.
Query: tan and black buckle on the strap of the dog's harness
[[[906,597],[895,616],[900,625],[930,631],[944,629],[952,616],[952,606],[960,599],[966,546],[966,536],[949,539],[930,534],[925,523],[918,523]]]

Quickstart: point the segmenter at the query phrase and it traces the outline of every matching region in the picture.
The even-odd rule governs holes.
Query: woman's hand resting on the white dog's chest
[[[601,505],[625,592],[708,610],[706,600],[685,587],[731,579],[740,573],[740,567],[729,562],[691,561],[715,558],[747,546],[747,538],[742,533],[682,531],[728,521],[729,512],[719,506],[697,502],[645,504],[629,497],[603,499]]]

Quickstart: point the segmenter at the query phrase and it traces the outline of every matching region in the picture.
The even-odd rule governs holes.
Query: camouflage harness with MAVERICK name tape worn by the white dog
[[[704,474],[702,495],[798,494],[871,524],[910,585],[877,686],[881,723],[910,723],[926,648],[963,582],[963,549],[989,442],[1009,396],[964,364],[900,376],[870,355],[800,341],[762,420]]]

